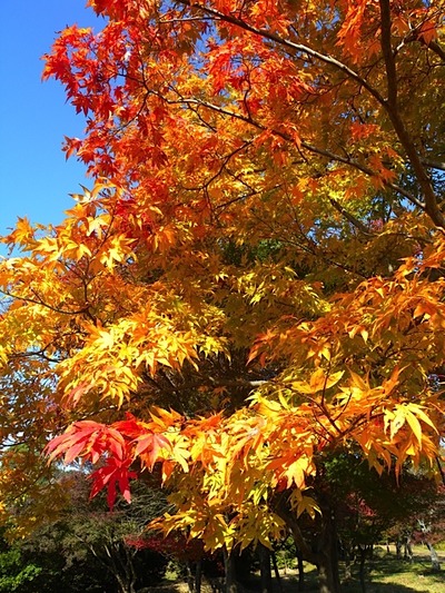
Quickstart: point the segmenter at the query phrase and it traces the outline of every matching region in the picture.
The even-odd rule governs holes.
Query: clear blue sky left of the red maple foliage
[[[63,136],[80,136],[85,120],[66,103],[58,82],[41,81],[41,56],[67,24],[100,29],[86,0],[2,1],[0,19],[0,234],[18,216],[59,223],[90,186],[85,168],[61,151]]]

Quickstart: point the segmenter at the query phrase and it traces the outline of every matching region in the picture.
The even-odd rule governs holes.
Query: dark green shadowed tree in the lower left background
[[[131,545],[131,540],[166,508],[164,495],[139,483],[134,505],[117,501],[110,511],[103,496],[89,503],[87,477],[83,471],[59,475],[66,506],[57,517],[41,522],[26,538],[7,546],[4,562],[10,559],[21,569],[16,580],[29,575],[31,581],[32,576],[23,590],[27,593],[59,593],[60,587],[73,593],[102,592],[103,587],[110,593],[135,593],[162,579],[168,559]],[[8,589],[12,581],[8,582],[6,591],[14,591]]]

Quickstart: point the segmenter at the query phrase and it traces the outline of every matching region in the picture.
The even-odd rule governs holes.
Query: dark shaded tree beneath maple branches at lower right
[[[406,530],[412,537],[413,526],[419,525],[418,517],[437,514],[441,492],[421,472],[404,472],[399,478],[394,473],[379,476],[357,449],[327,457],[312,495],[320,505],[329,504],[333,537],[346,561],[346,577],[352,575],[352,563],[358,563],[365,591],[365,565],[374,546],[388,533],[409,542]],[[320,517],[315,521],[306,517],[300,521],[300,528],[310,534],[309,541],[316,548],[323,530]]]

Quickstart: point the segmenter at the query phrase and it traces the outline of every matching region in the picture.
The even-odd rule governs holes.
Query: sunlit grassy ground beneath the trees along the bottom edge
[[[434,573],[431,570],[429,554],[425,547],[415,547],[412,563],[397,560],[394,553],[386,554],[382,551],[382,554],[367,564],[366,593],[445,593],[445,553],[439,553],[439,557],[443,562],[443,571]],[[317,574],[314,566],[308,565],[305,574],[305,593],[315,593],[317,591]],[[281,574],[283,593],[297,593],[297,583],[296,571],[291,570]],[[274,586],[275,591],[279,593],[277,583]],[[188,587],[185,583],[171,582],[151,587],[149,591],[152,593],[188,593]],[[202,593],[210,593],[211,591],[208,584],[204,584]],[[253,579],[249,583],[248,591],[260,591],[257,579]],[[342,592],[362,593],[356,570],[353,571],[353,580],[343,584]]]

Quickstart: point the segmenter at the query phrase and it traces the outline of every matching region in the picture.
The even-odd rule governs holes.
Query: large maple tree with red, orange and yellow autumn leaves
[[[444,2],[88,3],[44,77],[95,185],[3,238],[3,441],[101,462],[110,504],[159,472],[208,550],[290,527],[337,591],[326,456],[441,476]]]

